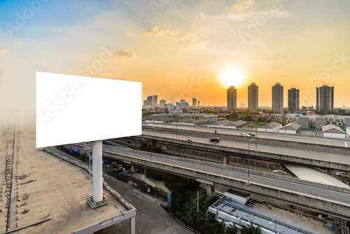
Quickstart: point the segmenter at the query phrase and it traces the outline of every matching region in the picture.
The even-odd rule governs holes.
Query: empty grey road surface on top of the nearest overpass
[[[113,153],[120,153],[125,156],[132,156],[137,158],[142,158],[144,160],[151,160],[151,156],[148,153],[142,151],[127,151],[124,149],[116,149],[112,147],[107,147],[106,151],[111,151]],[[159,156],[152,156],[153,162],[164,163],[169,165],[174,165],[176,167],[186,168],[188,170],[197,170],[207,174],[219,175],[221,177],[226,177],[229,179],[235,179],[240,181],[247,180],[247,174],[244,172],[235,172],[232,170],[225,170],[217,167],[209,167],[207,165],[200,165],[197,163],[188,163],[181,160],[173,160],[170,158],[162,158]],[[249,177],[251,184],[259,184],[260,186],[266,186],[269,188],[276,188],[281,191],[287,191],[291,193],[297,193],[301,195],[306,195],[312,198],[319,198],[321,200],[327,200],[329,202],[339,203],[350,207],[350,194],[340,193],[337,191],[329,191],[323,188],[316,188],[313,186],[307,186],[303,184],[296,184],[289,181],[284,181],[281,176],[281,180],[260,177],[258,175],[250,174]]]

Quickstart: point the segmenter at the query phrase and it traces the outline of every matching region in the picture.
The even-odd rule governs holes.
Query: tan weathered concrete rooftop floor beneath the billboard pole
[[[1,177],[5,178],[5,167],[2,166],[6,164],[5,160],[13,158],[11,224],[8,232],[24,228],[17,233],[73,233],[127,211],[106,190],[104,195],[108,198],[109,205],[90,209],[86,203],[90,193],[87,172],[36,149],[34,129],[21,129],[17,132],[20,134],[13,135],[13,130],[6,132],[3,128],[0,139]],[[5,186],[4,182],[0,186]],[[1,195],[6,195],[6,189]],[[6,200],[1,202],[0,209],[2,214],[7,214]],[[6,216],[1,215],[0,222],[5,223],[5,220]],[[40,221],[45,222],[31,226]],[[5,232],[6,227],[1,224],[0,233]]]

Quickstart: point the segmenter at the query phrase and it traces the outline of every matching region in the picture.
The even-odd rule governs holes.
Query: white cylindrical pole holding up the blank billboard
[[[102,141],[95,141],[92,142],[92,202],[102,199]]]

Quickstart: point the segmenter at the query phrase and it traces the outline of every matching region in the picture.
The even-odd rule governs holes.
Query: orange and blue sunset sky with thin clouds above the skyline
[[[316,105],[316,86],[335,86],[335,107],[350,106],[350,1],[1,1],[0,105],[29,112],[35,72],[143,83],[158,95],[201,105],[226,105],[223,71],[259,86],[300,89],[300,106]],[[107,52],[106,52],[107,51]],[[143,100],[141,100],[143,101]]]

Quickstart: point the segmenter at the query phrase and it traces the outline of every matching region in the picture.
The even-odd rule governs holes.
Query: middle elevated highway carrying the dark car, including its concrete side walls
[[[209,135],[206,132],[187,132],[186,130],[186,132],[176,132],[176,134],[174,134],[174,132],[169,132],[167,129],[149,129],[144,127],[142,133],[143,135],[140,136],[141,138],[151,139],[153,142],[169,142],[172,144],[195,146],[211,151],[214,150],[223,153],[224,158],[228,157],[230,153],[248,155],[248,140],[251,139],[251,137],[223,137],[218,135],[218,137],[221,137],[221,141],[216,143],[209,142],[209,138],[214,137],[215,135]],[[238,138],[239,141],[236,138]],[[188,139],[191,141],[188,141]],[[317,145],[313,147],[317,148]],[[331,148],[328,149],[328,151],[315,151],[314,149],[295,148],[288,144],[286,144],[286,146],[261,144],[258,139],[258,144],[256,145],[257,151],[255,151],[255,140],[250,143],[250,155],[256,158],[265,158],[266,160],[274,160],[281,163],[299,163],[302,165],[349,172],[350,152],[347,153],[349,149],[343,148],[344,147],[339,147],[339,149],[342,150],[337,151],[337,153],[332,153]]]

